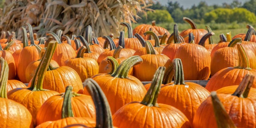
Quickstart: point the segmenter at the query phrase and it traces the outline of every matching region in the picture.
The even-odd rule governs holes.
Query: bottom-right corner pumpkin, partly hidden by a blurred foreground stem
[[[253,81],[254,76],[247,74],[233,94],[217,94],[219,102],[223,104],[224,109],[238,128],[254,128],[256,126],[256,122],[252,120],[256,117],[255,109],[253,109],[256,107],[256,100],[247,97]],[[212,98],[208,97],[199,106],[194,116],[194,128],[217,127],[217,123],[214,120],[214,104],[212,105],[211,100]]]

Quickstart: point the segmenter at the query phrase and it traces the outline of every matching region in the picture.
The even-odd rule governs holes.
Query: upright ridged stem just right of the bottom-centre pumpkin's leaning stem
[[[180,58],[175,58],[172,60],[174,68],[174,84],[175,85],[186,85],[184,80],[183,66]]]

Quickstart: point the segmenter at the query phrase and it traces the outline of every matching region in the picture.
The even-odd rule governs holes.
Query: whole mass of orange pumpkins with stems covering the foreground
[[[127,38],[2,32],[0,128],[255,128],[254,28],[213,42],[183,19],[172,34],[122,22]]]

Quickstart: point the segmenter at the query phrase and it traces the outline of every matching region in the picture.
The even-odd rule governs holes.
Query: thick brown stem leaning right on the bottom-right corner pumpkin
[[[232,96],[247,98],[250,88],[252,87],[253,80],[254,80],[253,75],[246,74],[242,82],[239,84],[238,88],[236,88],[236,91],[232,94]]]

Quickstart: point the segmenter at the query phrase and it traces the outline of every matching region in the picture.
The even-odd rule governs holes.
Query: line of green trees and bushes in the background
[[[246,22],[254,23],[256,21],[256,0],[250,0],[242,4],[234,0],[231,4],[222,3],[222,5],[209,6],[202,1],[198,5],[192,5],[191,8],[184,9],[179,2],[169,1],[167,5],[161,5],[156,2],[149,8],[155,11],[148,11],[147,15],[142,14],[139,23],[148,23],[156,20],[162,22],[184,22],[183,17],[189,17],[196,23],[232,23]]]

